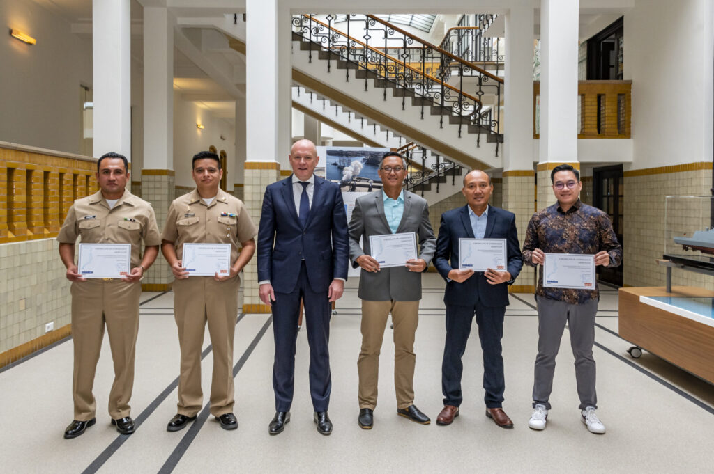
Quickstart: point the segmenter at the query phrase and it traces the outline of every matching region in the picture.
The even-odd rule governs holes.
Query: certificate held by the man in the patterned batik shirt
[[[545,254],[543,287],[595,289],[595,256]]]

